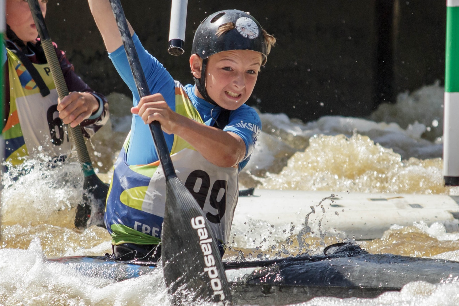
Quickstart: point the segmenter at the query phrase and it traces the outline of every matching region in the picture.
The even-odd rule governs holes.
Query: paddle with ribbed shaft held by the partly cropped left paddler
[[[59,61],[57,59],[56,50],[54,49],[50,35],[48,34],[45,19],[41,13],[38,1],[39,0],[27,0],[30,11],[32,12],[32,17],[34,17],[35,26],[37,27],[40,35],[41,46],[45,51],[46,61],[48,61],[48,64],[50,65],[51,75],[56,85],[57,94],[62,100],[68,95],[67,84],[65,83],[61,66],[59,65]],[[88,225],[103,226],[103,215],[105,211],[105,200],[108,193],[108,186],[102,182],[94,172],[80,126],[78,125],[75,128],[67,126],[67,130],[69,131],[73,144],[76,147],[78,161],[80,162],[84,173],[83,189],[85,192],[83,194],[82,203],[78,204],[76,209],[75,226],[77,228],[85,228]],[[90,220],[91,207],[93,207],[95,211],[93,212],[93,218]]]

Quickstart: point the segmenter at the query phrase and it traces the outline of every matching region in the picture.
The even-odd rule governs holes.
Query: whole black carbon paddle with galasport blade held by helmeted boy
[[[119,0],[110,0],[124,50],[140,97],[150,90],[140,66],[128,23]],[[166,209],[162,226],[162,262],[168,293],[176,305],[194,301],[231,305],[228,280],[217,240],[201,207],[177,178],[161,125],[150,124],[159,160],[166,177]]]

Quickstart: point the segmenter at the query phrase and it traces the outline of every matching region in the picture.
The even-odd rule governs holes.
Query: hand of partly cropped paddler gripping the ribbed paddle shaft
[[[70,124],[72,128],[80,124],[84,119],[87,119],[91,114],[99,109],[99,101],[95,96],[87,92],[73,91],[64,99],[57,100],[57,111],[59,118],[65,124]]]

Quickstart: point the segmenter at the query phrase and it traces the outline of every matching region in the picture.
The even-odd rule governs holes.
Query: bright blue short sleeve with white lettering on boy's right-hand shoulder
[[[252,107],[244,104],[237,110],[231,112],[228,125],[223,130],[237,134],[246,144],[246,156],[239,164],[239,170],[241,171],[249,161],[253,149],[255,148],[258,135],[261,132],[260,117]]]

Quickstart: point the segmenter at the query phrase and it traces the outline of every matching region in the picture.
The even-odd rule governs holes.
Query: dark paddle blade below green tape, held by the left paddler
[[[75,210],[75,227],[79,229],[97,225],[105,227],[105,201],[108,186],[93,174],[84,178],[83,200]]]

